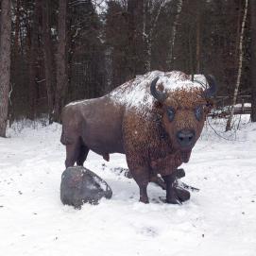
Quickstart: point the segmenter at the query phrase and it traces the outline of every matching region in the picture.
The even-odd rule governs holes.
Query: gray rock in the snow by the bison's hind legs
[[[82,166],[68,167],[62,173],[60,199],[63,204],[80,209],[84,203],[97,204],[102,197],[111,196],[107,182]]]

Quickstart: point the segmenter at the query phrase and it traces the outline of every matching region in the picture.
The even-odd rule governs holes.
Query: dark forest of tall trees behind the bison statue
[[[238,94],[252,95],[252,121],[256,121],[254,0],[0,3],[1,25],[11,21],[10,41],[4,26],[0,31],[0,47],[10,43],[11,122],[42,115],[50,122],[60,121],[66,103],[106,94],[151,70],[213,74],[218,95],[230,96],[231,102],[240,57]],[[8,3],[10,11],[4,15]],[[8,52],[0,54],[0,65],[5,64]],[[4,72],[1,68],[0,77]],[[0,79],[1,102],[7,96],[3,87]]]

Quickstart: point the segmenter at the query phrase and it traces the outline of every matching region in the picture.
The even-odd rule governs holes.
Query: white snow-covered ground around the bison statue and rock
[[[113,197],[80,211],[60,202],[60,126],[16,124],[0,139],[0,255],[255,256],[256,126],[246,123],[222,133],[229,140],[205,128],[183,165],[184,181],[200,192],[182,206],[162,203],[153,184],[150,204],[139,203],[135,182],[113,171],[127,166],[125,157],[104,162],[90,153],[86,166],[107,180]]]

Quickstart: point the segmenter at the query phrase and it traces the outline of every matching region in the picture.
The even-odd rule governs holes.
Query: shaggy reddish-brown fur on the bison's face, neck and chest
[[[157,103],[154,105],[152,114],[146,122],[136,110],[125,115],[124,147],[128,168],[137,183],[146,186],[151,177],[157,174],[161,174],[162,177],[172,175],[182,162],[189,161],[192,148],[180,150],[175,137],[180,129],[195,129],[196,140],[198,139],[207,113],[204,112],[200,122],[196,120],[196,106],[207,104],[201,96],[202,91],[198,93],[197,90],[175,92],[166,99],[163,106],[158,106]],[[176,110],[176,119],[172,125],[165,114],[165,106],[172,106]],[[141,200],[147,202],[148,198],[146,195],[141,196]],[[172,200],[173,198],[170,202],[174,202]]]

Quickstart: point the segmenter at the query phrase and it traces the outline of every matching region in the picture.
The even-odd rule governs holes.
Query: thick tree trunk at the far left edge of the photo
[[[6,137],[9,111],[9,72],[10,72],[10,0],[1,3],[0,39],[0,137]]]

